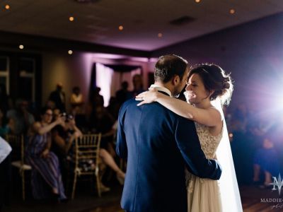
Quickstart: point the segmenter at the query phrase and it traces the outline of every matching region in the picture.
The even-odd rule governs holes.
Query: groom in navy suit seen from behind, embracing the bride
[[[160,57],[151,87],[176,96],[185,87],[188,66],[176,55]],[[127,160],[121,206],[134,212],[187,212],[185,167],[202,178],[219,179],[221,167],[200,147],[195,124],[158,102],[122,105],[117,154]]]

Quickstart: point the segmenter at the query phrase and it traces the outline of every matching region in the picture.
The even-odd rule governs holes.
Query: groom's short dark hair
[[[159,57],[154,69],[154,80],[167,83],[177,75],[183,80],[185,70],[187,69],[187,61],[175,54],[168,54]]]

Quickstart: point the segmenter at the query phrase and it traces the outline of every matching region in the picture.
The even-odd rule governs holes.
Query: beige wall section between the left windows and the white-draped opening
[[[75,52],[73,55],[54,53],[42,54],[42,102],[46,102],[57,82],[63,83],[67,106],[74,86],[81,88],[84,98],[88,97],[93,58],[91,54]],[[67,107],[69,109],[69,107]]]

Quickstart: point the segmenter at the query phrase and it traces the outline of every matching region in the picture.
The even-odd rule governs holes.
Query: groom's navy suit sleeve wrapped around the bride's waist
[[[185,160],[187,169],[201,178],[219,179],[221,166],[216,160],[205,158],[195,129],[195,123],[183,117],[177,119],[175,140]]]

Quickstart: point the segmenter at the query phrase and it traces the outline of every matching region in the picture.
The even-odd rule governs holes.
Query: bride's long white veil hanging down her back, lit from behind
[[[223,117],[223,136],[216,151],[217,160],[222,167],[222,175],[219,179],[222,209],[229,212],[243,211],[221,100],[216,99],[214,107],[221,112]]]

